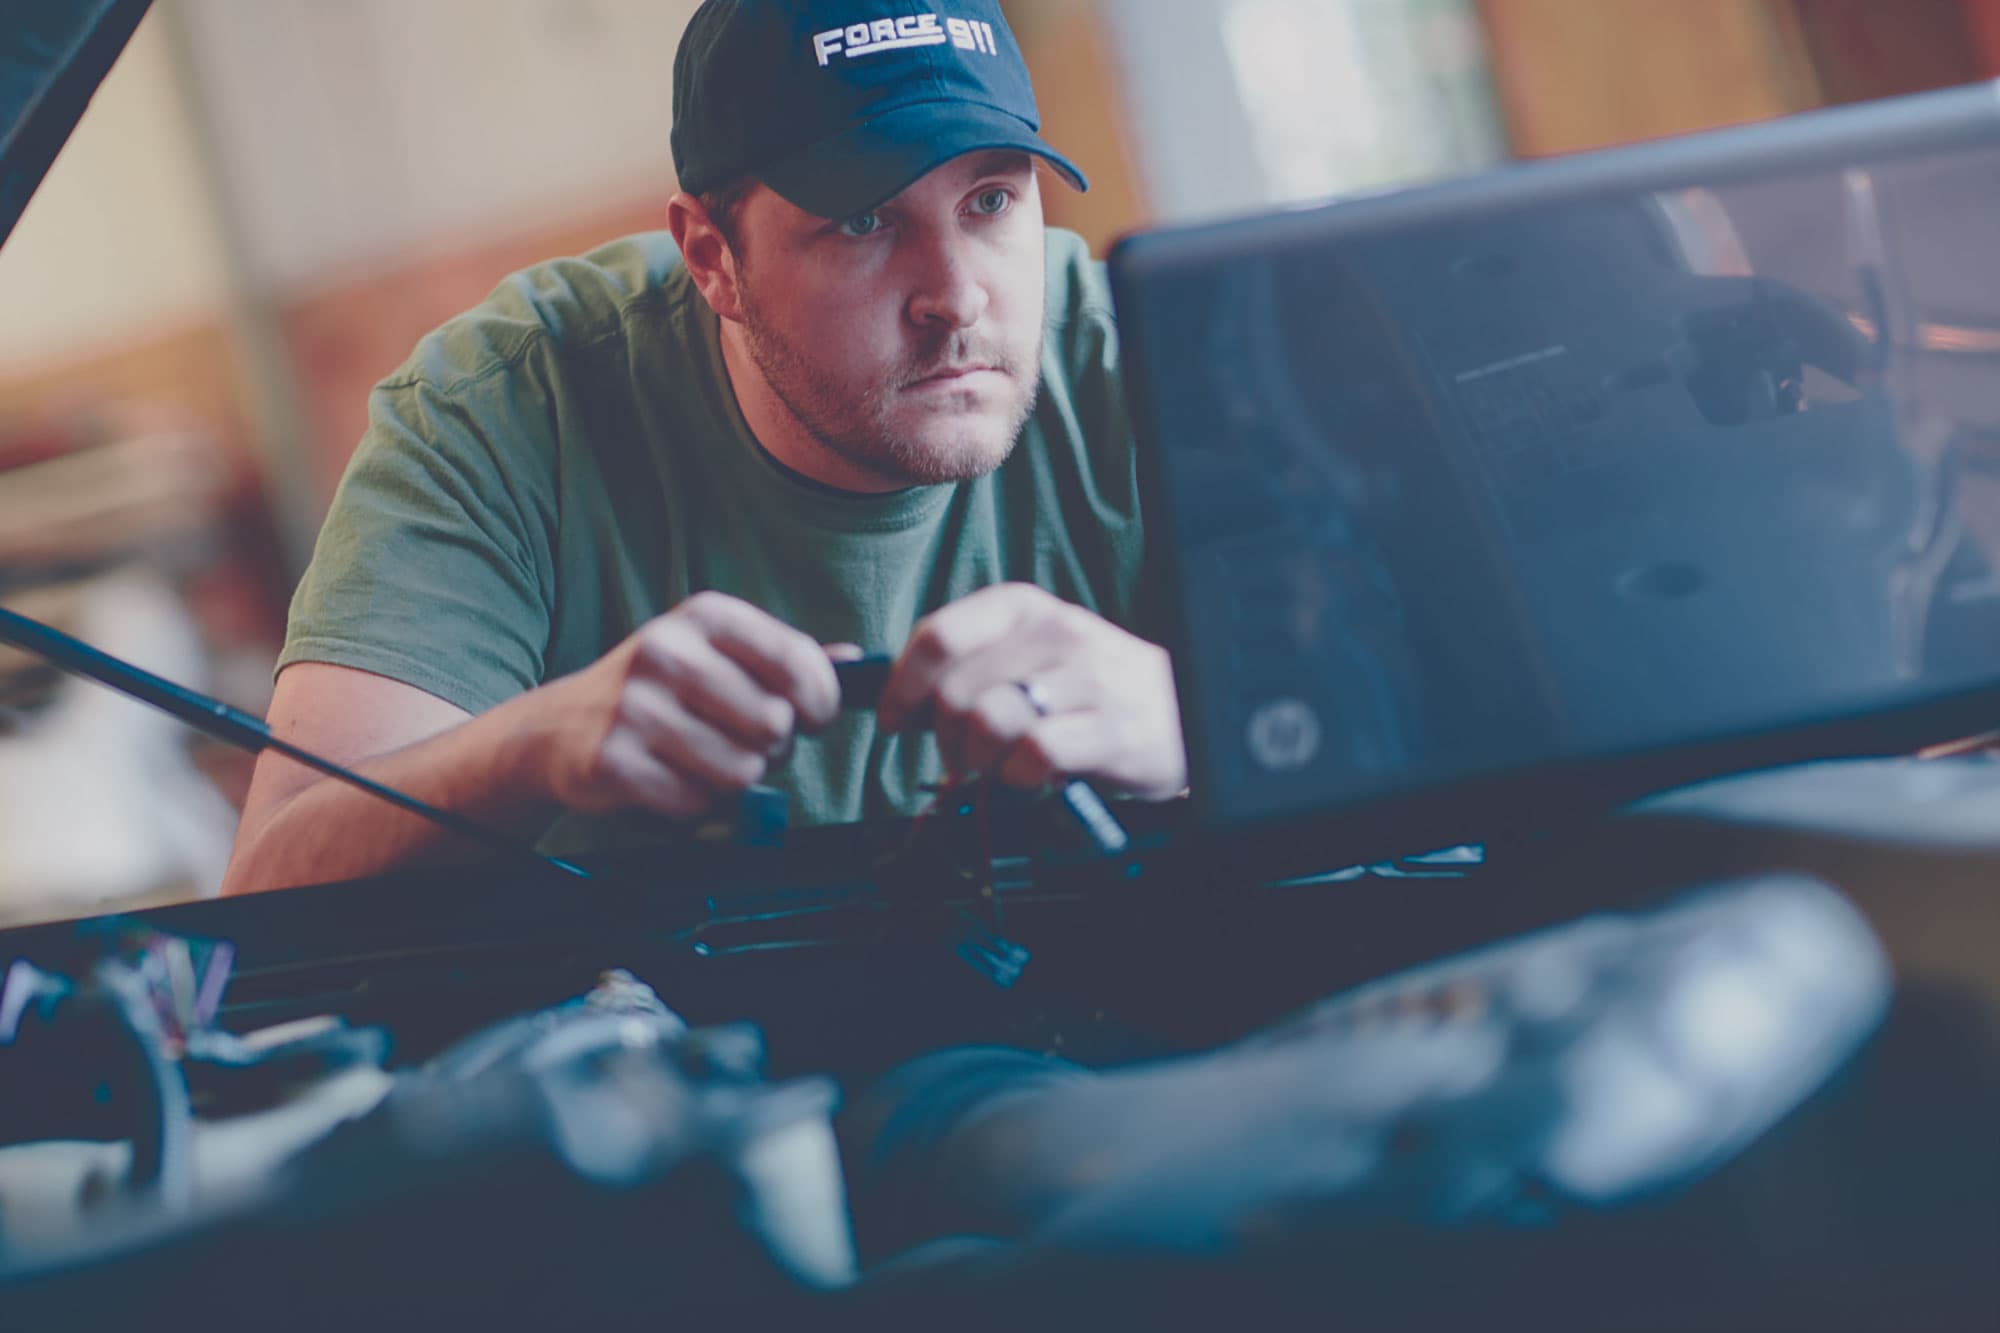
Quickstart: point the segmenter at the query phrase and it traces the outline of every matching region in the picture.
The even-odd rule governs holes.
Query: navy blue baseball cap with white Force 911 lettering
[[[996,0],[706,0],[674,56],[674,170],[690,194],[754,176],[852,218],[982,148],[1046,158]]]

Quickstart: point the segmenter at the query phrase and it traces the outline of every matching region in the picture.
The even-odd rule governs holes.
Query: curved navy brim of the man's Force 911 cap
[[[1016,148],[1054,166],[1078,190],[1090,182],[1020,116],[976,102],[898,106],[822,138],[756,178],[822,218],[852,218],[902,194],[918,176],[968,152]]]

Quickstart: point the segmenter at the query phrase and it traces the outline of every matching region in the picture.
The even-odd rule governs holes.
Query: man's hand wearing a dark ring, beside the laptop
[[[918,620],[876,717],[900,731],[926,715],[956,777],[1090,777],[1148,799],[1188,785],[1166,648],[1034,584],[980,588]]]

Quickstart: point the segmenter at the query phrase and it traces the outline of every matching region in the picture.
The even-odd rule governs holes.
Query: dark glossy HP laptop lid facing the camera
[[[2000,725],[1996,236],[1968,88],[1124,242],[1200,809]]]

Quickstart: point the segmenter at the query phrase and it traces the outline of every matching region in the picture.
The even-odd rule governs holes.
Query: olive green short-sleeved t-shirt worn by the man
[[[1046,272],[1042,384],[1014,452],[976,480],[880,496],[828,490],[764,452],[668,234],[510,276],[370,396],[280,669],[356,666],[482,713],[704,588],[874,652],[1004,580],[1140,628],[1110,294],[1068,232],[1048,232]],[[794,823],[828,823],[920,809],[938,773],[928,735],[844,713],[770,783]],[[568,819],[550,845],[616,833]]]

